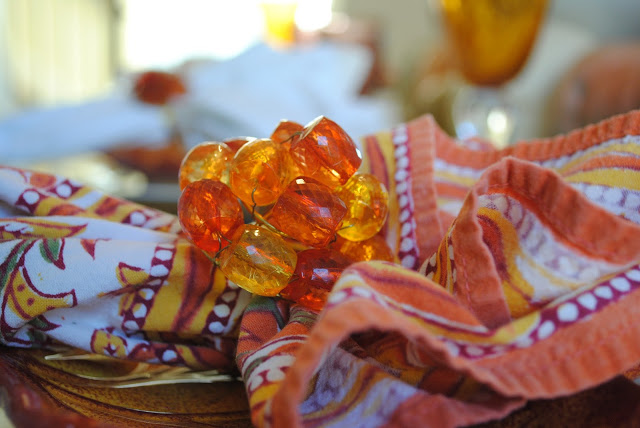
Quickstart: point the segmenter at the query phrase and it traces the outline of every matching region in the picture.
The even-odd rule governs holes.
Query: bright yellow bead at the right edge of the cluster
[[[356,173],[336,194],[347,206],[338,234],[351,241],[364,241],[377,234],[387,220],[389,194],[371,174]]]

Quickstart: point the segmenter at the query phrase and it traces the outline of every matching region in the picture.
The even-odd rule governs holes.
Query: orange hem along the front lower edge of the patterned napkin
[[[350,334],[371,328],[406,335],[429,348],[431,355],[449,367],[486,383],[505,396],[531,399],[570,394],[602,383],[637,363],[640,342],[635,339],[640,335],[640,324],[630,321],[638,305],[640,291],[603,308],[589,319],[558,330],[529,348],[494,358],[468,360],[450,355],[439,339],[410,320],[393,316],[375,302],[367,299],[345,302],[324,314],[312,329],[309,340],[299,349],[294,365],[274,396],[273,423],[275,426],[300,426],[297,406],[323,356]],[[596,338],[600,346],[585,348],[585,337]],[[576,353],[576,349],[582,352]],[[532,375],[535,373],[539,376]],[[402,411],[402,406],[396,411]],[[465,419],[464,422],[470,421]]]

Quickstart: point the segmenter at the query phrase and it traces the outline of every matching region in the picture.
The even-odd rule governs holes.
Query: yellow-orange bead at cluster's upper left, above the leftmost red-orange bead
[[[225,143],[206,141],[193,147],[180,164],[180,190],[203,178],[228,182],[228,166],[232,158],[233,152]]]

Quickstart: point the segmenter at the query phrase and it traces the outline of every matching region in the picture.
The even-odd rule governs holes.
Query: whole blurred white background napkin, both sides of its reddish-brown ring
[[[399,121],[393,102],[359,95],[370,66],[369,51],[355,45],[326,42],[282,51],[258,45],[229,61],[185,67],[188,93],[170,108],[189,147],[212,139],[268,137],[281,119],[305,124],[318,115],[357,139]],[[164,144],[170,129],[163,109],[127,92],[120,87],[103,99],[0,121],[0,162],[24,166],[123,143]]]

